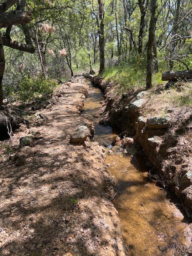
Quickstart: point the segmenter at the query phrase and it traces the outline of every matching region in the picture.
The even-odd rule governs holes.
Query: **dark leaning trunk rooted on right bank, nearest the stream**
[[[152,55],[152,47],[155,39],[155,24],[156,24],[156,1],[157,0],[151,0],[151,19],[150,19],[150,25],[149,25],[149,39],[148,39],[148,45],[147,45],[147,75],[146,75],[146,88],[149,89],[152,87],[152,61],[153,61],[153,55]]]

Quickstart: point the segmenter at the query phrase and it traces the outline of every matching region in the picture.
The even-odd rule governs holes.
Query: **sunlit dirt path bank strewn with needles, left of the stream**
[[[97,144],[89,149],[69,143],[78,126],[92,128],[81,114],[88,91],[75,78],[62,85],[52,108],[39,111],[48,117],[43,125],[36,122],[43,138],[32,143],[24,166],[9,165],[8,157],[28,134],[27,126],[1,142],[1,255],[125,255],[105,153]]]

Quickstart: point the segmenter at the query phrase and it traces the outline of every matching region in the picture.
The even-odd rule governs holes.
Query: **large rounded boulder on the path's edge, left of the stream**
[[[86,138],[90,136],[90,130],[87,126],[79,126],[77,131],[70,136],[70,143],[71,144],[82,144]]]

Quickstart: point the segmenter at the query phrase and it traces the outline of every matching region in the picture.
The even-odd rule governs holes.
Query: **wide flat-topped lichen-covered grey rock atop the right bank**
[[[147,127],[150,129],[163,129],[168,128],[171,125],[171,119],[169,117],[156,116],[147,119]]]

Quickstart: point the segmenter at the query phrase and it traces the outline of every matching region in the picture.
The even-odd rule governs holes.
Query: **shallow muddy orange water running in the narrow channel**
[[[91,84],[84,114],[95,124],[94,140],[101,145],[112,143],[116,134],[110,126],[99,124],[98,110],[103,94]],[[142,157],[125,155],[122,148],[108,155],[108,171],[116,180],[114,206],[122,223],[122,234],[129,256],[185,255],[189,230],[182,214],[166,198],[165,192],[148,180]]]

